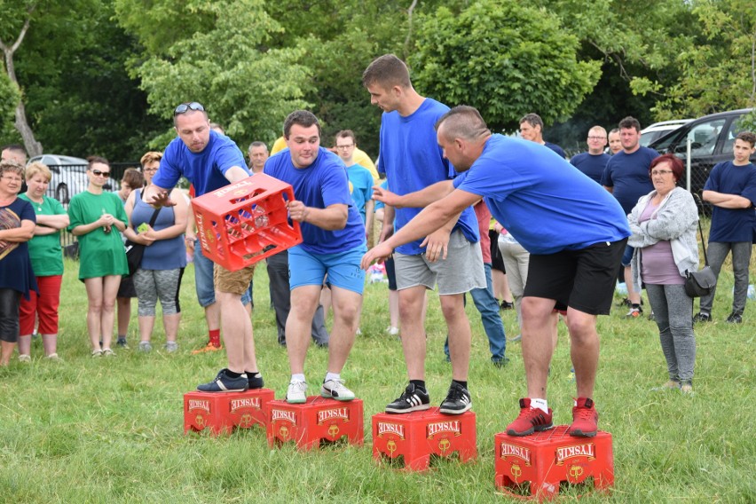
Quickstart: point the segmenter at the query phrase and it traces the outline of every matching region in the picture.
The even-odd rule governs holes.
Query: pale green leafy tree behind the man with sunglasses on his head
[[[310,105],[303,99],[311,83],[310,69],[300,63],[304,51],[265,46],[281,28],[263,0],[163,0],[147,8],[138,0],[116,0],[115,6],[122,26],[136,30],[145,45],[132,69],[155,115],[168,120],[178,103],[200,101],[211,120],[246,148],[251,140],[272,142],[287,114]],[[153,35],[164,27],[169,36],[160,40],[168,46]],[[167,131],[152,145],[164,146],[172,137]]]

